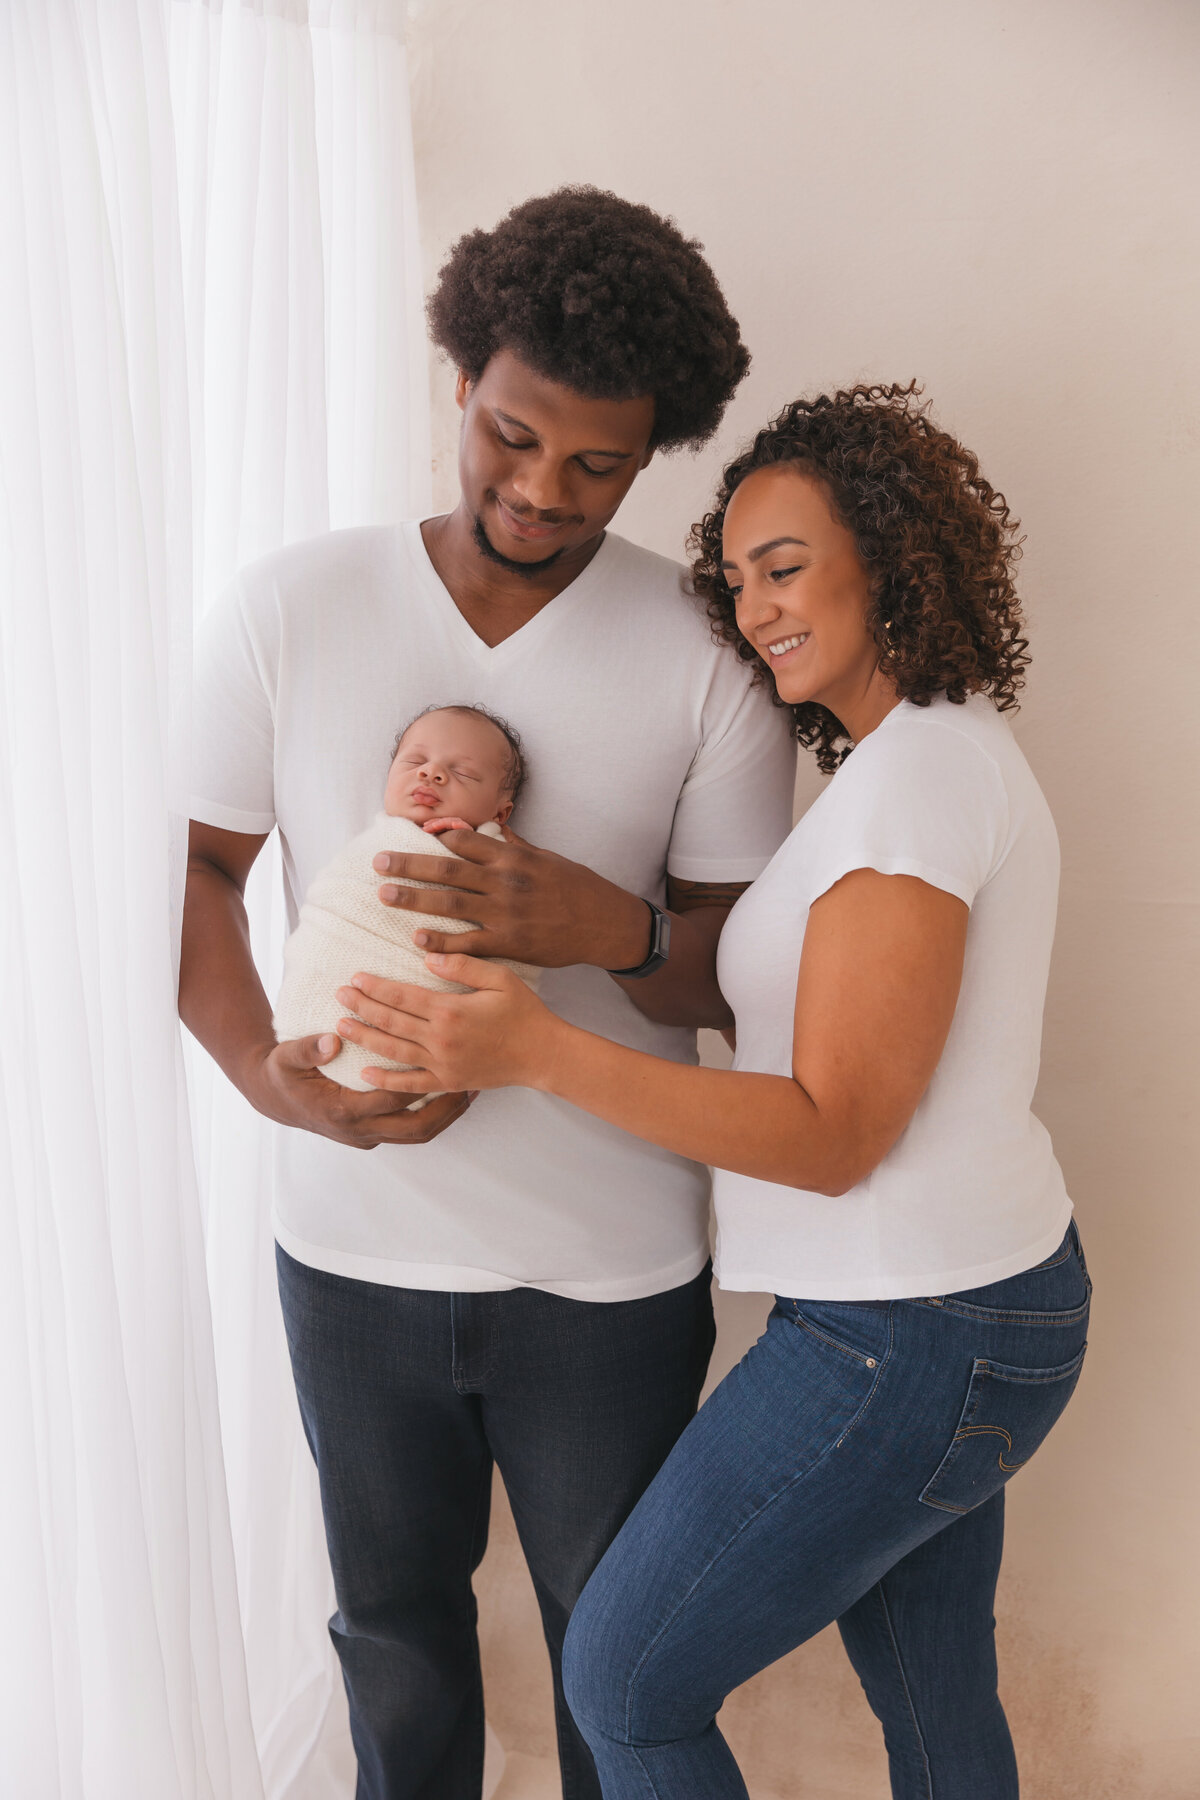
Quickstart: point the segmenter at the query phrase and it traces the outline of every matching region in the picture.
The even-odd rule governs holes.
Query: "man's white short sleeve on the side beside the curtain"
[[[250,614],[239,581],[200,621],[191,815],[201,824],[254,835],[275,824],[273,639],[277,628]]]

